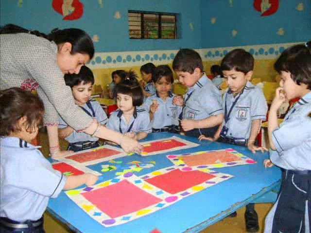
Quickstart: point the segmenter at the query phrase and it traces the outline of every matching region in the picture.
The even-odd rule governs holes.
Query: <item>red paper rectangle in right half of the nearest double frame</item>
[[[203,171],[181,171],[175,169],[163,175],[146,179],[145,181],[170,194],[176,194],[214,177],[214,175]]]

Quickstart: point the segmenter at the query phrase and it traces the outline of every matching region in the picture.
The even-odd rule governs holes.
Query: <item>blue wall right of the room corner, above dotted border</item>
[[[311,40],[311,0],[279,0],[279,3],[274,15],[260,17],[253,0],[231,0],[231,4],[230,0],[201,0],[202,48]],[[299,3],[303,4],[302,11],[296,9]],[[280,28],[283,35],[277,34]],[[237,31],[235,37],[233,30]]]

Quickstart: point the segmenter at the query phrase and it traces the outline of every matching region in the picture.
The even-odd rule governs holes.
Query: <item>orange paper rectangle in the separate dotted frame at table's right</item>
[[[184,161],[187,166],[219,164],[242,160],[235,154],[228,151],[206,152],[203,154],[194,154],[178,158]]]

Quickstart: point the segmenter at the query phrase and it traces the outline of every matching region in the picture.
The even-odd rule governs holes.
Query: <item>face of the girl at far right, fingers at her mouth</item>
[[[306,94],[307,85],[304,83],[301,83],[301,85],[296,84],[291,78],[290,72],[281,71],[280,77],[280,87],[284,89],[287,100],[300,98]]]

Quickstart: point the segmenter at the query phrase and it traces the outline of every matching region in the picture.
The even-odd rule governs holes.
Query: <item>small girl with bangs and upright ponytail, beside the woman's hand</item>
[[[126,136],[141,140],[151,133],[148,112],[140,108],[143,103],[142,89],[134,72],[128,72],[125,80],[116,86],[117,105],[106,127]]]

